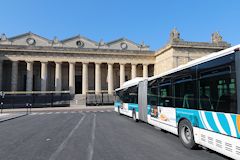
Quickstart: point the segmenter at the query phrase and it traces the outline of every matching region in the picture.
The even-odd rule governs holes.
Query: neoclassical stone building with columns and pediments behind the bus
[[[174,29],[157,51],[121,38],[95,42],[83,36],[46,39],[34,33],[0,37],[0,90],[113,94],[135,77],[149,77],[230,47],[218,33],[212,42],[189,42]]]

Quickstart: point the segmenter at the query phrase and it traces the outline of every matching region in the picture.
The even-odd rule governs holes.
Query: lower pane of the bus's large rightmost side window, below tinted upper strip
[[[217,73],[217,71],[215,71]],[[216,112],[236,113],[235,74],[218,72],[199,80],[199,109]]]

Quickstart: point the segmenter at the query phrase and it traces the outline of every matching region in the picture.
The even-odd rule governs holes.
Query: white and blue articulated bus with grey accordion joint
[[[240,45],[115,90],[115,111],[240,160]]]

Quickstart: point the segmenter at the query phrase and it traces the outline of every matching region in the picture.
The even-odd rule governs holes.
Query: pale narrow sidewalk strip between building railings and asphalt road
[[[47,107],[47,108],[32,108],[31,112],[54,112],[54,111],[87,111],[87,110],[105,110],[114,109],[114,106],[74,106],[74,107]],[[26,108],[19,109],[4,109],[3,113],[26,113]]]

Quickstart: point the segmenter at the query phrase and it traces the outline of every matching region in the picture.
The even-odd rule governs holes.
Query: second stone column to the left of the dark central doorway
[[[62,90],[62,63],[55,62],[55,91]]]

